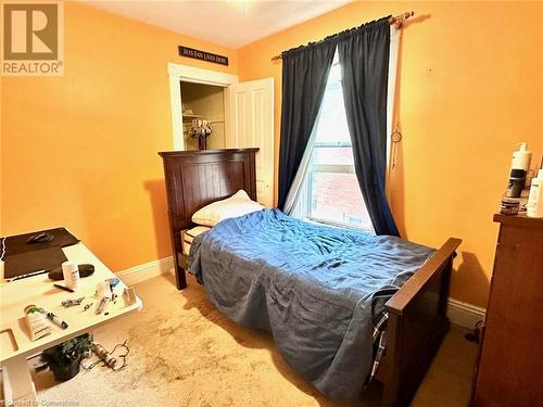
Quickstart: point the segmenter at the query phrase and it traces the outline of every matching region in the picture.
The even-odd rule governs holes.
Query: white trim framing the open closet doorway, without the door
[[[185,138],[182,136],[181,80],[186,82],[213,85],[226,88],[231,84],[238,84],[239,78],[238,75],[176,64],[174,62],[167,63],[167,71],[169,80],[169,104],[172,106],[172,136],[174,140],[174,150],[184,151]],[[226,96],[225,110],[227,110]],[[225,131],[227,131],[227,128],[228,126],[225,123]]]

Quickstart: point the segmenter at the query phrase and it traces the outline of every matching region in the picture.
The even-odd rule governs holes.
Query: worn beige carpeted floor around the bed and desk
[[[128,339],[125,370],[97,366],[64,383],[39,372],[35,381],[45,405],[334,406],[289,368],[268,333],[229,321],[193,279],[180,292],[172,275],[136,290],[143,309],[93,332],[110,349]],[[464,333],[453,327],[412,406],[467,405],[477,347]],[[379,406],[379,386],[353,405]]]

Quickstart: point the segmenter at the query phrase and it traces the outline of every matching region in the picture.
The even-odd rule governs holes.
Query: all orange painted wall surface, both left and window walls
[[[64,225],[114,270],[168,256],[166,63],[274,77],[277,149],[272,55],[406,9],[392,207],[411,240],[464,239],[452,295],[483,306],[514,143],[543,151],[543,3],[355,2],[238,51],[66,3],[65,75],[0,78],[1,232]],[[180,43],[231,64],[180,59]]]

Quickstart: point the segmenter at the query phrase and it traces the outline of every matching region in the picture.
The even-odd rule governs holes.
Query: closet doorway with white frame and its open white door
[[[274,79],[239,82],[237,75],[171,62],[167,67],[174,150],[199,150],[198,138],[189,132],[193,119],[211,122],[207,149],[258,148],[256,195],[258,202],[272,207],[275,191]]]

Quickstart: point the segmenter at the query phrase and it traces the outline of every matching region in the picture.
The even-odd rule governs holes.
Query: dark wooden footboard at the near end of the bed
[[[449,288],[460,242],[449,239],[386,304],[387,349],[377,372],[386,407],[409,404],[449,330]]]

